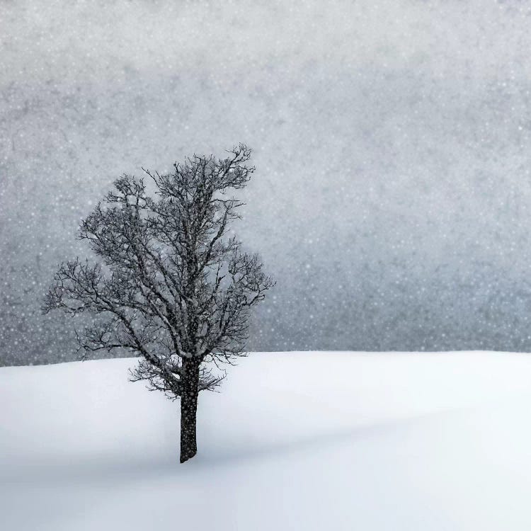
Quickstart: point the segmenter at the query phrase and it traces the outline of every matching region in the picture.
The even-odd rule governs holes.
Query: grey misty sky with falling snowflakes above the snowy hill
[[[531,350],[525,1],[0,1],[0,365],[122,173],[245,142],[249,350]]]

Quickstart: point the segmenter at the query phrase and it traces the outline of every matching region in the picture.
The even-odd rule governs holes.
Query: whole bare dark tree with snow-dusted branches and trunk
[[[198,393],[222,379],[209,367],[244,355],[251,307],[274,284],[227,237],[243,204],[227,192],[254,171],[244,144],[228,153],[194,155],[164,175],[144,170],[154,198],[142,178],[115,181],[79,229],[101,262],[63,263],[43,307],[97,314],[77,332],[84,355],[130,349],[140,358],[133,381],[181,398],[181,462],[197,452]]]

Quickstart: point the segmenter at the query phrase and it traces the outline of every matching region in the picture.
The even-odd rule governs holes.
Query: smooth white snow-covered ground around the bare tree
[[[0,369],[0,528],[530,530],[531,356],[253,353],[178,403],[134,360]]]

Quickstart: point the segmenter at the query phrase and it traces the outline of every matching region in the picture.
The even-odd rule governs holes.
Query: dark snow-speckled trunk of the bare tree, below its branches
[[[181,395],[181,463],[198,452],[196,425],[198,414],[199,365],[195,359],[183,359],[183,394]]]

